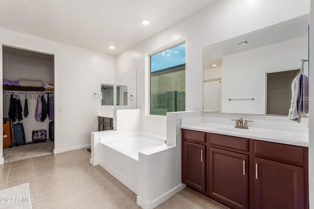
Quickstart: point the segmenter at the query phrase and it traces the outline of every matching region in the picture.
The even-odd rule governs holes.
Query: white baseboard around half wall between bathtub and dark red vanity
[[[139,195],[136,197],[136,204],[142,207],[143,209],[154,209],[173,195],[177,194],[179,191],[181,191],[186,185],[180,184],[173,189],[169,190],[168,192],[164,193],[162,196],[158,197],[154,201],[145,201],[143,200]]]

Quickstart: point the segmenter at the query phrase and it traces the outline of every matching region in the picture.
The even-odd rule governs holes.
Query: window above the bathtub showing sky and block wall
[[[150,114],[185,111],[185,43],[150,55]]]

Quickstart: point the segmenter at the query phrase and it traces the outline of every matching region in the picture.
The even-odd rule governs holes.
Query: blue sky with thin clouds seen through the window
[[[151,72],[185,63],[185,43],[151,56]]]

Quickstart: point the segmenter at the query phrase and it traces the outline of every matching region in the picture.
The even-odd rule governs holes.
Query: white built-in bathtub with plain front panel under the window
[[[139,152],[155,153],[165,144],[164,136],[136,132],[100,140],[99,164],[138,194]]]

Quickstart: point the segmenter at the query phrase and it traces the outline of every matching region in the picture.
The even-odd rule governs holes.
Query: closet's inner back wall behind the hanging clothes
[[[10,54],[3,54],[3,78],[8,80],[31,79],[42,80],[43,83],[54,83],[54,67],[52,61],[39,60]],[[49,120],[48,116],[44,122],[36,121],[34,118],[37,99],[27,99],[28,116],[24,116],[25,93],[19,93],[22,103],[23,120],[16,120],[15,123],[22,122],[26,135],[26,142],[32,141],[32,131],[47,130],[49,139]],[[28,96],[27,94],[26,96]],[[31,94],[32,95],[32,94]],[[36,94],[37,97],[38,94]],[[52,94],[50,94],[52,96]],[[48,102],[47,94],[44,95]],[[6,98],[6,91],[3,92],[3,117],[9,117],[10,98]]]

